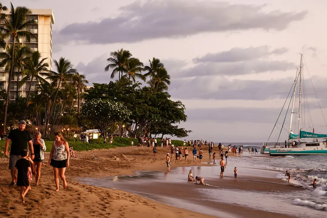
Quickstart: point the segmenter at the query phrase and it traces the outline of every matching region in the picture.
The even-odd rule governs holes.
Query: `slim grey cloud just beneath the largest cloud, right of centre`
[[[206,54],[201,58],[193,59],[194,62],[238,62],[268,57],[271,54],[283,54],[287,52],[287,48],[277,48],[272,52],[269,51],[267,45],[249,48],[234,47],[229,51],[217,52],[214,54]]]

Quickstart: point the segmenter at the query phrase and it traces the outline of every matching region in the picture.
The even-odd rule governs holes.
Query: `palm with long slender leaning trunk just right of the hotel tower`
[[[54,63],[55,63],[57,72],[49,71],[50,76],[48,76],[46,79],[52,80],[53,84],[57,83],[58,87],[57,87],[57,92],[56,92],[56,94],[54,96],[54,99],[52,101],[52,107],[51,107],[51,109],[49,111],[49,116],[47,118],[46,124],[49,124],[50,115],[51,115],[51,113],[53,111],[53,108],[55,106],[55,101],[56,101],[56,98],[57,98],[57,95],[58,95],[58,91],[59,91],[59,87],[60,87],[61,82],[66,83],[67,79],[71,79],[72,75],[77,73],[76,69],[73,68],[73,65],[70,62],[70,60],[66,60],[65,58],[61,57],[59,59],[59,62],[57,60],[54,60]],[[47,134],[48,134],[48,130],[46,128],[45,135],[47,135]]]

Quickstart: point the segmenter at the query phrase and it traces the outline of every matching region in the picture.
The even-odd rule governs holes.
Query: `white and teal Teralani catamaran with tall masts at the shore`
[[[302,83],[303,83],[303,81],[302,81],[302,77],[303,77],[303,59],[304,59],[303,54],[301,54],[300,70],[297,71],[297,74],[296,74],[296,77],[295,77],[295,80],[294,80],[294,83],[293,83],[294,89],[293,89],[293,85],[292,85],[292,88],[291,88],[291,90],[293,89],[293,95],[291,97],[292,111],[291,111],[291,121],[290,121],[290,126],[289,126],[289,131],[288,131],[288,142],[287,143],[285,142],[284,147],[277,147],[275,145],[273,147],[268,148],[267,146],[265,146],[265,148],[263,148],[263,152],[265,154],[267,154],[267,149],[269,150],[270,155],[278,155],[278,156],[281,156],[281,155],[310,155],[310,154],[318,155],[318,154],[327,154],[326,140],[318,142],[318,139],[326,139],[327,134],[317,134],[317,133],[315,133],[314,128],[313,128],[312,132],[302,130],[303,126],[301,126],[301,118],[302,118],[301,117],[301,105],[302,105],[301,100],[302,100]],[[296,87],[297,87],[298,80],[299,80],[299,110],[297,112],[295,112],[294,111],[294,103],[295,103]],[[291,92],[291,90],[290,90],[290,92]],[[289,101],[288,107],[291,104],[291,100]],[[318,100],[318,98],[317,98],[317,100]],[[285,101],[285,103],[286,103],[286,101]],[[284,105],[285,105],[285,103],[284,103]],[[284,108],[284,106],[283,106],[283,108]],[[288,109],[287,109],[287,111],[288,111]],[[299,134],[294,134],[292,132],[292,120],[295,117],[295,116],[293,116],[293,114],[296,114],[296,113],[298,113]],[[287,115],[287,112],[286,112],[286,115]],[[286,115],[285,115],[285,118],[286,118]],[[277,121],[278,121],[278,119],[277,119]],[[276,124],[277,124],[277,121],[276,121]],[[285,119],[284,119],[284,122],[285,122]],[[284,122],[283,122],[283,126],[284,126]],[[275,124],[275,126],[276,126],[276,124]],[[280,133],[283,130],[283,126],[281,128]],[[279,136],[278,136],[278,140],[279,140],[279,137],[280,137],[280,133],[279,133]],[[271,136],[271,134],[270,134],[270,136]],[[305,141],[305,139],[310,139],[310,140]],[[314,140],[312,140],[312,139],[314,139]],[[277,142],[278,142],[278,140],[277,140]],[[296,141],[297,146],[294,146],[293,144],[290,146],[290,140],[291,141]]]

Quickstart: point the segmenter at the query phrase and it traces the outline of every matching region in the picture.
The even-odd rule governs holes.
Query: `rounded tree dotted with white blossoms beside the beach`
[[[107,137],[109,128],[116,122],[129,118],[131,111],[121,102],[108,99],[93,99],[82,105],[81,118],[91,122],[99,132]]]

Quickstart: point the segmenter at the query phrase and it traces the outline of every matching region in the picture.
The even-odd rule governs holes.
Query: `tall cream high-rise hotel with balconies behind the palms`
[[[35,20],[37,24],[30,25],[27,30],[33,33],[36,37],[31,38],[30,41],[26,39],[20,39],[21,45],[24,45],[31,49],[31,51],[39,51],[43,58],[47,58],[45,62],[49,64],[49,70],[52,70],[52,25],[54,24],[54,16],[52,9],[31,9],[32,14],[28,16],[27,20]],[[1,23],[0,23],[1,25]],[[13,39],[6,39],[6,43],[9,47],[12,46]],[[15,42],[17,44],[17,42]],[[7,47],[7,46],[6,46]],[[5,48],[0,47],[0,52],[6,52]],[[17,71],[15,71],[11,77],[10,83],[10,100],[16,99],[16,89],[17,89]],[[5,72],[5,65],[0,59],[0,88],[7,90],[8,88],[8,76],[9,72]],[[21,80],[21,75],[19,77]],[[25,97],[29,86],[30,79],[26,82],[23,87],[19,88],[19,95]],[[35,86],[38,83],[37,80],[32,81],[31,92],[34,92]]]

